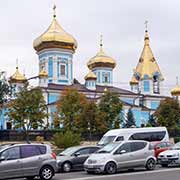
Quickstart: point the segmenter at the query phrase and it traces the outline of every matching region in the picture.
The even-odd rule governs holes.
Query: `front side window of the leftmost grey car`
[[[14,160],[20,158],[20,148],[19,147],[12,147],[9,149],[6,149],[1,153],[1,158],[4,158],[5,160]]]

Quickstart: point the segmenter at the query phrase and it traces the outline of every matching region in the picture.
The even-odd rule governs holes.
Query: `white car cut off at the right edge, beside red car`
[[[158,163],[162,167],[167,167],[169,164],[180,164],[180,142],[176,143],[169,150],[160,153]]]

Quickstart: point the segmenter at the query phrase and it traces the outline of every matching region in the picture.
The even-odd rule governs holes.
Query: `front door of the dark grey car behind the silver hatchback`
[[[89,157],[90,154],[90,148],[82,148],[76,151],[73,156],[73,166],[75,168],[83,168],[83,164],[86,161],[86,159]]]

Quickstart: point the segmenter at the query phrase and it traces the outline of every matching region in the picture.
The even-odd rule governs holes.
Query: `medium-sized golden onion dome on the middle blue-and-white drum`
[[[103,44],[102,44],[102,36],[100,41],[100,51],[89,60],[87,63],[89,69],[93,69],[95,67],[111,67],[114,68],[116,66],[116,61],[105,54],[103,51]]]

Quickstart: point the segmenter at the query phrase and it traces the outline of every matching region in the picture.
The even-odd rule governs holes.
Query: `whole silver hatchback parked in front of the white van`
[[[149,142],[137,140],[110,143],[92,154],[84,163],[87,173],[114,174],[121,168],[131,169],[140,166],[153,170],[156,158]]]

